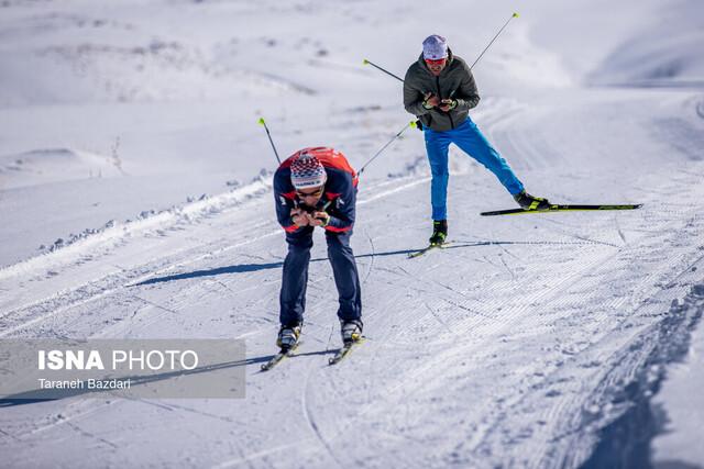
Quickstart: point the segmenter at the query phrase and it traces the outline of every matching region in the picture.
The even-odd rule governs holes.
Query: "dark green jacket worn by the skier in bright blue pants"
[[[431,92],[442,99],[452,98],[458,107],[449,112],[438,108],[427,110],[422,107],[425,94]],[[408,67],[404,79],[404,107],[406,111],[420,119],[420,122],[433,131],[444,132],[457,129],[466,120],[470,109],[476,107],[480,96],[474,77],[466,63],[448,51],[448,65],[439,77],[433,76],[422,54],[418,62]]]

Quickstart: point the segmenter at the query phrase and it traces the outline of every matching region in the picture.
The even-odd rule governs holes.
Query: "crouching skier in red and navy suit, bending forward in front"
[[[316,226],[326,231],[328,257],[340,298],[338,317],[342,340],[348,344],[362,336],[360,278],[350,246],[356,185],[356,172],[344,155],[327,147],[296,152],[274,174],[276,215],[288,243],[279,297],[280,330],[276,340],[284,350],[295,347],[300,336]]]

